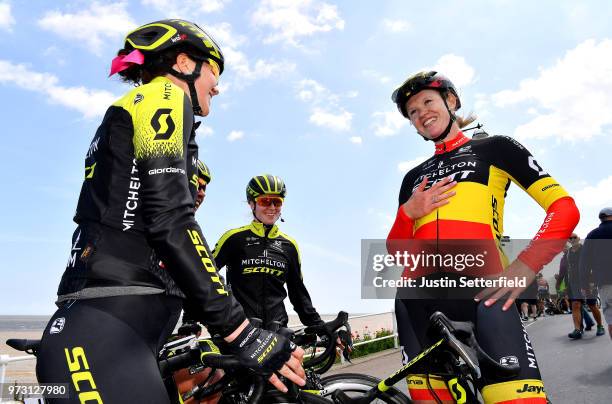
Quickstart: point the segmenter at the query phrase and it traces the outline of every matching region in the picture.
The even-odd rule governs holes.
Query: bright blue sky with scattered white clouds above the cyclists
[[[360,298],[362,239],[384,239],[403,175],[433,154],[390,101],[423,69],[460,89],[463,115],[515,137],[575,198],[584,237],[612,206],[608,1],[0,0],[0,314],[51,314],[68,259],[83,160],[127,32],[194,21],[221,46],[220,95],[197,132],[213,180],[196,218],[210,244],[250,221],[260,173],[288,188],[281,230],[301,249],[321,313],[390,310]],[[517,186],[505,234],[543,210]]]

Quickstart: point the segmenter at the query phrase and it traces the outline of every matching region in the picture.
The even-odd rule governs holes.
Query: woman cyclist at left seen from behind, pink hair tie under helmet
[[[151,271],[158,260],[245,366],[281,390],[275,371],[304,384],[303,352],[248,322],[194,218],[194,115],[208,115],[223,68],[215,41],[184,20],[137,28],[113,60],[111,75],[136,87],[109,107],[85,156],[59,309],[38,355],[41,383],[68,383],[62,402],[169,402],[157,353],[182,300]]]

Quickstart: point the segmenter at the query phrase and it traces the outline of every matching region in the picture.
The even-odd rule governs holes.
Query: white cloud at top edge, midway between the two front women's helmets
[[[318,0],[263,0],[251,21],[255,26],[270,28],[264,43],[283,42],[293,46],[300,46],[302,37],[344,29],[344,20],[336,6]]]

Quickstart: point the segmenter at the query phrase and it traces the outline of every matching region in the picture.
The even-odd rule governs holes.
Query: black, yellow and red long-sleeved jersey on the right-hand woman
[[[425,177],[427,188],[446,177],[457,181],[447,205],[412,220],[402,205]],[[515,139],[491,136],[469,139],[463,133],[436,145],[434,156],[410,170],[402,182],[399,209],[388,240],[445,239],[494,240],[504,231],[504,203],[511,183],[517,184],[546,212],[534,239],[556,239],[528,249],[520,258],[534,271],[549,262],[562,248],[578,222],[578,210],[565,189],[544,170]],[[502,257],[502,261],[503,261]],[[502,262],[502,265],[505,264]]]

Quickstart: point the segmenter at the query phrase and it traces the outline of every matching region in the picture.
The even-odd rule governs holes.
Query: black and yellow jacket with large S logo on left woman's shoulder
[[[197,158],[191,102],[169,79],[109,107],[85,157],[60,301],[163,293],[174,281],[215,332],[245,319],[194,218]],[[168,276],[151,271],[159,260]]]

